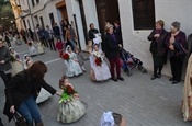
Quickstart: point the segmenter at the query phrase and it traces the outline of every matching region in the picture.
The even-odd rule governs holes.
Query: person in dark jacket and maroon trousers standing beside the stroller
[[[120,47],[122,45],[117,42],[114,33],[113,33],[113,25],[106,24],[105,26],[106,35],[104,38],[104,53],[106,58],[110,61],[110,72],[112,76],[113,81],[121,80],[123,81],[124,78],[121,76],[121,64],[120,64]],[[116,76],[114,69],[116,68]]]

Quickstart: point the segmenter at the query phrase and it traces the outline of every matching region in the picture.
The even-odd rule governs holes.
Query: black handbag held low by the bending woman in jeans
[[[13,119],[14,119],[15,126],[27,126],[25,118],[18,112],[13,114]]]

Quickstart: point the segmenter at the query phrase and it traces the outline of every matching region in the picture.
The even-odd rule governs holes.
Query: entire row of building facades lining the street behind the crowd
[[[76,30],[79,47],[87,49],[89,24],[104,36],[105,22],[118,20],[122,26],[124,48],[144,62],[144,67],[153,70],[147,36],[157,20],[165,21],[165,28],[170,31],[174,21],[181,23],[181,31],[187,36],[192,27],[191,0],[11,0],[20,4],[22,12],[19,21],[24,28],[35,31],[36,24],[52,25],[67,20]],[[27,1],[27,2],[26,2]],[[18,23],[16,23],[18,24]],[[21,27],[20,26],[20,27]],[[162,71],[170,76],[169,61]]]

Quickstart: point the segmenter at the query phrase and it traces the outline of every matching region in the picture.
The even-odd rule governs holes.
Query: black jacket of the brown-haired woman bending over
[[[33,79],[26,70],[19,72],[11,79],[5,88],[7,100],[3,111],[3,113],[9,117],[9,121],[12,119],[10,107],[14,105],[16,110],[20,104],[31,95],[33,95],[36,100],[42,87],[52,94],[56,93],[56,90],[44,80],[35,81],[35,79]]]

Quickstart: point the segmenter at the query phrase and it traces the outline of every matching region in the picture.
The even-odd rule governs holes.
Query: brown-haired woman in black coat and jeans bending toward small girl
[[[59,94],[54,88],[47,84],[44,76],[47,67],[42,61],[34,62],[29,69],[15,75],[5,88],[4,114],[12,119],[12,113],[19,112],[29,126],[43,126],[38,106],[35,102],[41,88],[52,94]]]

